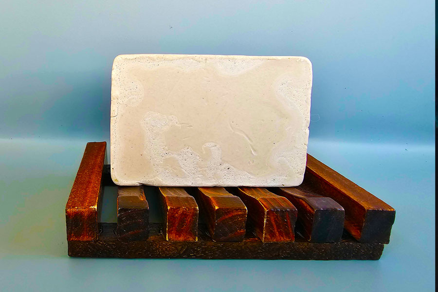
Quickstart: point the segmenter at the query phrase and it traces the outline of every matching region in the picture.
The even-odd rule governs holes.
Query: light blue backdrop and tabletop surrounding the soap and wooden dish
[[[435,3],[2,1],[1,290],[431,291]],[[88,141],[109,142],[119,54],[303,55],[309,153],[397,210],[379,261],[67,256],[64,205]]]

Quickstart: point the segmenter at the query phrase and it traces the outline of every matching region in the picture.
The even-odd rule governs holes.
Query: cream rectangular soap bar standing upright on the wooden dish
[[[111,73],[112,180],[299,185],[311,86],[305,57],[119,55]]]

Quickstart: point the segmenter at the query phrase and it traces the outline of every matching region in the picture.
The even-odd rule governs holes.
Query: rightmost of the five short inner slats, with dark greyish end
[[[297,228],[311,242],[339,242],[344,231],[344,208],[331,198],[316,194],[310,186],[275,188],[298,210]]]

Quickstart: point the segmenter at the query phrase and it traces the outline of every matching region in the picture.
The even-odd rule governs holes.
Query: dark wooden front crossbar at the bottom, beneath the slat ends
[[[347,238],[336,243],[309,242],[297,237],[295,242],[263,243],[248,233],[243,242],[215,242],[200,225],[196,242],[169,242],[160,234],[161,225],[150,224],[149,239],[122,242],[114,234],[115,223],[102,223],[102,233],[97,241],[69,241],[69,256],[125,257],[125,258],[254,258],[254,259],[314,259],[377,260],[383,244],[360,243]]]

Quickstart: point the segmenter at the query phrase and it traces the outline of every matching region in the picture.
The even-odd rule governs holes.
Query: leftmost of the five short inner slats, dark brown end
[[[146,240],[149,236],[149,205],[143,186],[119,186],[117,236],[122,241]]]

